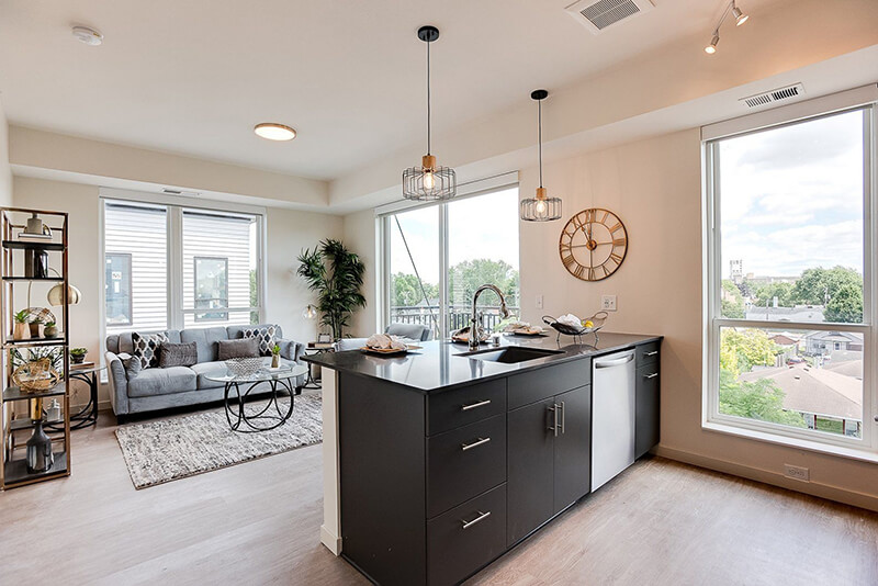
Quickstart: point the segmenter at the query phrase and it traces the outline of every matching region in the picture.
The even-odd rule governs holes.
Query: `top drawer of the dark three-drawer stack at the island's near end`
[[[488,381],[427,397],[427,435],[506,413],[506,380]]]

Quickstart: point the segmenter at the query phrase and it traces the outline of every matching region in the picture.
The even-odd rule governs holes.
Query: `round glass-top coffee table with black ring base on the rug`
[[[223,399],[226,408],[226,419],[233,431],[252,433],[268,431],[282,426],[293,415],[295,387],[293,379],[306,374],[306,367],[291,367],[281,369],[262,370],[252,374],[219,375],[207,374],[207,380],[225,384]],[[255,396],[263,390],[255,390],[262,383],[268,383],[271,393],[264,407],[247,409],[246,405],[258,401]],[[241,385],[247,390],[241,392]],[[290,397],[290,405],[282,406],[280,398]],[[277,415],[275,415],[277,414]]]

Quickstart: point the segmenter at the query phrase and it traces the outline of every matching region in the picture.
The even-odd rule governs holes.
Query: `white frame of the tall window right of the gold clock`
[[[878,407],[878,269],[873,253],[878,240],[878,88],[868,86],[830,97],[783,106],[751,116],[706,126],[701,132],[703,169],[703,274],[705,274],[705,345],[702,421],[705,429],[741,435],[812,451],[875,461],[878,458],[878,430],[875,409]],[[863,193],[863,295],[862,324],[793,323],[725,318],[721,314],[722,298],[722,234],[720,217],[719,144],[724,138],[753,134],[792,124],[815,121],[852,111],[863,111],[864,131],[864,193]],[[719,413],[719,343],[723,327],[753,327],[783,330],[849,331],[863,335],[863,421],[862,438],[798,429],[780,424],[758,421]]]

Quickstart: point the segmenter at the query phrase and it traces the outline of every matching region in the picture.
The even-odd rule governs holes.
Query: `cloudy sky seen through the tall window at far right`
[[[720,143],[722,275],[863,273],[863,112]]]

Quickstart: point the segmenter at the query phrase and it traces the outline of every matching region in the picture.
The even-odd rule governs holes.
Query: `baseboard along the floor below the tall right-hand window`
[[[807,495],[818,496],[820,498],[826,498],[837,503],[844,503],[845,505],[852,505],[854,507],[878,511],[878,496],[875,495],[849,491],[840,486],[833,486],[818,482],[801,482],[793,478],[788,478],[779,472],[772,472],[768,470],[739,464],[736,462],[709,458],[685,450],[667,448],[661,444],[655,449],[655,453],[656,455],[667,458],[668,460],[676,460],[677,462],[684,462],[686,464],[693,464],[695,466],[723,472],[733,476],[741,476],[742,478],[770,484],[772,486],[779,486],[780,488],[787,488],[797,493],[804,493]]]

